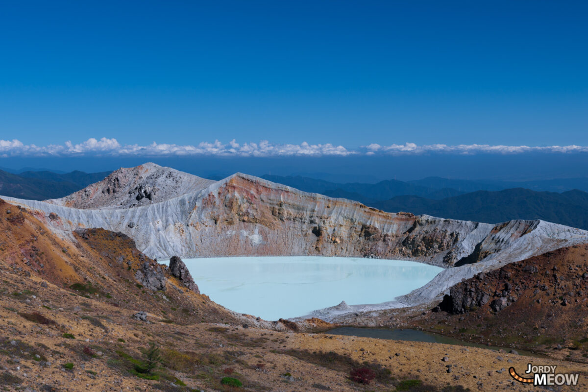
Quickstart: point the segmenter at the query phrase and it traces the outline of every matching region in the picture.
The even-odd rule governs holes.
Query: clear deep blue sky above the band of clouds
[[[588,145],[588,6],[14,1],[0,139]]]

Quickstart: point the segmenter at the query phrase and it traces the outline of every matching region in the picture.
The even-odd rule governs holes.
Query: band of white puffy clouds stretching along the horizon
[[[193,145],[176,145],[153,142],[149,145],[121,145],[112,138],[90,138],[85,142],[74,144],[71,141],[63,145],[36,146],[25,145],[17,139],[0,140],[0,157],[16,156],[235,156],[235,157],[280,157],[280,156],[373,156],[373,155],[417,155],[425,153],[453,153],[473,155],[476,153],[518,154],[529,152],[573,153],[588,152],[588,146],[506,146],[506,145],[379,145],[372,143],[358,149],[347,149],[331,143],[279,144],[262,140],[259,143],[239,144],[235,139],[223,144],[201,142]]]

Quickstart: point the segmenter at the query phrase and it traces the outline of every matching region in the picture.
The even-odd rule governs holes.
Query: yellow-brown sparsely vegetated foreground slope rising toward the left
[[[169,274],[163,292],[138,287],[136,269],[155,262],[138,252],[128,237],[93,229],[80,233],[72,239],[55,237],[26,210],[0,203],[0,388],[529,390],[512,385],[502,371],[509,366],[522,371],[527,357],[442,344],[245,328],[242,319],[208,297],[188,292]],[[139,310],[149,313],[148,322],[132,317]],[[145,372],[143,351],[149,343],[159,348],[161,359]],[[588,370],[564,361],[542,363],[556,364],[559,371]],[[369,385],[350,380],[354,368],[368,368],[363,374],[375,379]],[[223,377],[242,386],[223,384]],[[580,382],[566,390],[586,390],[584,376]]]

